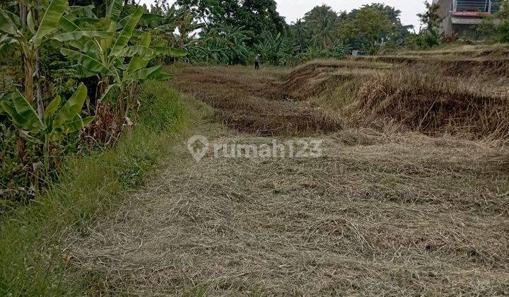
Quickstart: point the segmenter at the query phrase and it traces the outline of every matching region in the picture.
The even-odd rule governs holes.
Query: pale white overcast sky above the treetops
[[[419,31],[419,18],[416,14],[425,10],[423,0],[276,0],[276,2],[279,14],[286,17],[286,23],[302,18],[304,13],[321,4],[327,4],[335,11],[351,11],[353,8],[363,6],[363,4],[385,3],[402,11],[402,23],[404,25],[414,25],[416,31]],[[147,4],[150,8],[153,0],[141,0],[141,3]]]

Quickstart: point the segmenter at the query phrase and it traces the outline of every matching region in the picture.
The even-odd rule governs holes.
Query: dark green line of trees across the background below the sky
[[[262,62],[280,65],[308,57],[344,57],[350,48],[401,45],[411,28],[402,25],[401,11],[383,4],[365,5],[351,13],[316,6],[303,19],[281,26],[273,2],[179,0],[175,8],[156,1],[151,9],[171,20],[160,37],[187,50],[187,62],[251,64],[252,57],[261,54]],[[201,26],[198,20],[203,21]],[[179,34],[174,33],[177,25],[170,23],[187,25],[178,26]],[[197,28],[203,28],[199,37]]]

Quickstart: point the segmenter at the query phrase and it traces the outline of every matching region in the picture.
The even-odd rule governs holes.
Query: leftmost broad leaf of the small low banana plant
[[[43,124],[37,117],[37,112],[19,91],[16,90],[0,98],[0,106],[21,129],[35,133],[42,129]]]

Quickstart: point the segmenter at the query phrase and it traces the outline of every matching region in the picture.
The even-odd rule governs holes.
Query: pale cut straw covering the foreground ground
[[[210,120],[189,135],[271,143]],[[509,292],[506,149],[368,129],[315,136],[320,158],[199,162],[182,139],[144,190],[70,238],[87,293]]]

